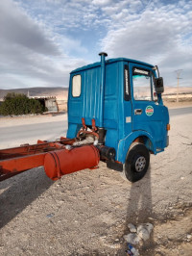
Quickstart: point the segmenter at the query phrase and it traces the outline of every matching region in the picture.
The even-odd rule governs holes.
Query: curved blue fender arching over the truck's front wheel
[[[126,138],[119,141],[118,149],[117,149],[117,161],[123,164],[125,163],[126,155],[132,144],[132,141],[134,141],[136,138],[141,136],[145,136],[150,140],[151,145],[147,145],[147,147],[151,149],[153,153],[156,155],[156,142],[154,138],[146,131],[139,130],[139,131],[130,133]]]

